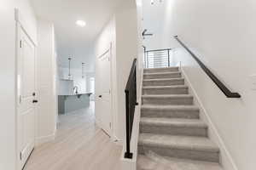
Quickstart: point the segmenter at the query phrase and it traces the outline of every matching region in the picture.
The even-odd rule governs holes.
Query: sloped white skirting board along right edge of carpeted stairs
[[[192,83],[189,81],[189,77],[186,72],[183,70],[183,67],[180,65],[183,77],[185,79],[185,83],[189,86],[189,92],[195,96],[195,105],[198,105],[201,111],[201,119],[207,122],[209,126],[209,138],[212,139],[220,149],[220,163],[224,167],[225,170],[238,170],[236,167],[236,163],[230,155],[229,150],[224,144],[224,140],[219,136],[218,130],[212,122],[209,114],[207,113],[206,108],[202,105],[201,99],[199,95],[196,93],[195,88],[193,88]]]

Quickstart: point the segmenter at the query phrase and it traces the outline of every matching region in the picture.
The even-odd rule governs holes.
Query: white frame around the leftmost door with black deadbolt
[[[19,65],[20,65],[20,62],[19,62],[19,57],[20,57],[20,31],[23,31],[23,32],[25,32],[25,34],[26,34],[26,36],[30,39],[30,41],[32,42],[32,44],[34,45],[34,48],[35,48],[35,54],[34,54],[34,56],[35,56],[35,92],[36,92],[36,94],[38,94],[38,84],[37,84],[37,46],[38,46],[38,44],[37,44],[37,42],[35,42],[34,40],[33,40],[33,38],[30,36],[30,34],[28,33],[28,29],[27,29],[27,27],[28,26],[26,26],[26,21],[24,20],[24,18],[22,17],[22,15],[20,14],[20,10],[18,9],[18,8],[15,8],[15,26],[16,26],[16,28],[15,28],[15,31],[16,31],[16,48],[15,48],[15,55],[16,55],[16,59],[15,59],[15,82],[16,82],[16,84],[15,84],[15,86],[16,86],[16,88],[15,88],[15,94],[16,94],[16,102],[15,102],[15,111],[16,111],[16,114],[15,114],[15,143],[16,143],[16,148],[15,148],[15,150],[16,150],[16,159],[15,159],[15,167],[16,167],[16,169],[17,170],[21,170],[22,169],[22,167],[20,167],[20,161],[19,161],[19,159],[20,159],[20,150],[19,150],[19,134],[18,134],[18,114],[19,114],[19,112],[18,112],[18,106],[19,106],[19,103],[20,103],[20,94],[19,94],[19,87],[20,87],[20,85],[19,85],[19,78],[20,77],[18,77],[18,74],[19,74],[19,72],[18,72],[18,67],[19,67]],[[36,141],[36,136],[37,136],[37,130],[38,130],[38,126],[37,126],[37,108],[35,108],[35,136],[34,136],[34,138],[35,138],[35,141]],[[29,158],[28,158],[29,159]]]

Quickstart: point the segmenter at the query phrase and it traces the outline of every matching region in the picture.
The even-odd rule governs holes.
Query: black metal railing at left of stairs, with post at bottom
[[[137,59],[133,60],[130,75],[125,87],[126,152],[125,158],[132,158],[131,133],[135,107],[137,105]]]

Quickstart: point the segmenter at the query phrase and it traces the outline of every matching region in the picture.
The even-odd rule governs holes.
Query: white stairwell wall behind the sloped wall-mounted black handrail
[[[241,99],[227,99],[195,61],[177,48],[176,60],[182,61],[183,71],[216,127],[218,142],[222,140],[222,147],[230,153],[228,159],[222,149],[226,170],[253,170],[256,166],[256,93],[249,78],[256,73],[255,7],[252,0],[173,0],[146,9],[151,14],[154,11],[153,19],[159,20],[159,29],[152,26],[155,37],[145,42],[148,47],[177,48],[172,37],[178,35],[232,91],[241,94]],[[150,27],[147,17],[145,25]]]

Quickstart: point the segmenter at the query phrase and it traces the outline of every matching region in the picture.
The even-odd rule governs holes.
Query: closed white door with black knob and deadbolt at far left
[[[18,157],[22,168],[35,145],[35,46],[20,28],[18,55]]]

